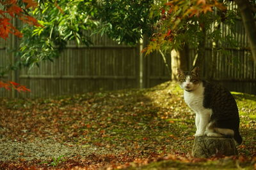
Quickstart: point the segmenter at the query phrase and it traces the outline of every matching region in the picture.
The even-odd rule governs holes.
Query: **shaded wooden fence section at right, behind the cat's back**
[[[231,34],[225,24],[221,24],[220,29],[223,32],[223,39],[225,36],[234,36],[239,48],[226,46],[226,50],[231,55],[225,56],[221,52],[214,52],[212,47],[207,45],[204,76],[213,81],[219,81],[229,90],[256,94],[256,62],[253,61],[250,53],[243,22],[241,20],[236,21],[234,34]]]

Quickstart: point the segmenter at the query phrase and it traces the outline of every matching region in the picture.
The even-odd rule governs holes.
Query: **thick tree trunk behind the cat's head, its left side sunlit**
[[[189,71],[189,48],[188,45],[184,45],[184,47],[180,50],[172,50],[172,80],[177,81],[177,69],[180,68],[183,71]]]

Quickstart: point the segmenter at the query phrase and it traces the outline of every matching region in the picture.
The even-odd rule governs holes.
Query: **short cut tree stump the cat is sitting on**
[[[209,158],[214,155],[237,155],[236,143],[232,138],[196,137],[192,155],[198,158]]]

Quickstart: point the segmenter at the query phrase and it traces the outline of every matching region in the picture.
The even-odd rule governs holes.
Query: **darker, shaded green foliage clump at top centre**
[[[149,17],[152,4],[153,0],[102,0],[97,17],[102,25],[96,32],[134,45],[144,34],[152,34],[152,24],[156,22],[156,18]]]

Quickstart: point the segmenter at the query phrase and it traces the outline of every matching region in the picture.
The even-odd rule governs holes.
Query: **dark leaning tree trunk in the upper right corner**
[[[248,0],[235,0],[241,13],[244,29],[249,39],[254,62],[256,62],[256,24],[253,19],[252,6]]]

